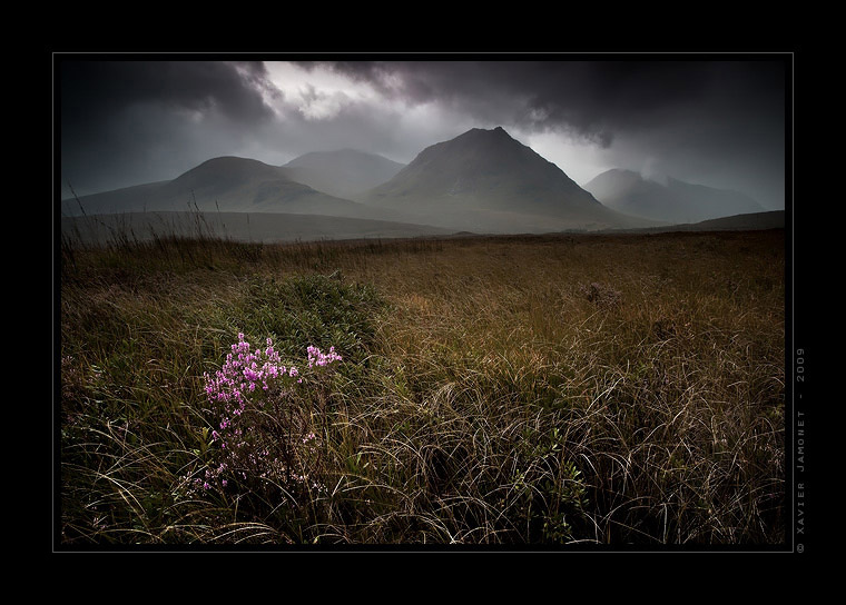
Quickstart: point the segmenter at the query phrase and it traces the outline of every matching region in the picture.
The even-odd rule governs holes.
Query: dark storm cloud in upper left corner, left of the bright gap
[[[62,181],[82,191],[174,178],[273,117],[260,62],[67,59],[57,69]]]

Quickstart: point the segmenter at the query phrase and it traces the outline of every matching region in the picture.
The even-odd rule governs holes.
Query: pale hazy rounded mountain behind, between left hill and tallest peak
[[[313,151],[283,168],[292,180],[348,199],[391,180],[404,166],[374,153],[341,149]]]

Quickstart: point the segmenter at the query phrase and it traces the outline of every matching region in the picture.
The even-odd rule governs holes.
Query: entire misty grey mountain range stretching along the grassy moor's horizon
[[[638,229],[763,210],[739,194],[675,180],[661,186],[622,170],[582,188],[502,128],[474,128],[425,148],[407,166],[350,149],[306,153],[285,166],[215,158],[174,180],[65,199],[61,208],[65,217],[250,214],[285,237],[296,225],[308,234]],[[272,215],[287,218],[270,220]],[[292,218],[303,216],[314,219]],[[332,217],[381,222],[342,224]],[[243,218],[230,216],[228,224]],[[246,229],[247,237],[254,230]]]

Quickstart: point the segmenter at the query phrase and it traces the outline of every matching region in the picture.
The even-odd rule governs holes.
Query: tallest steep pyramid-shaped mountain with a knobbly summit
[[[476,232],[646,226],[602,206],[501,127],[474,128],[427,147],[391,180],[355,199]]]

